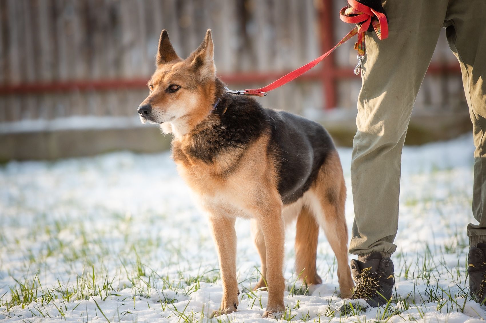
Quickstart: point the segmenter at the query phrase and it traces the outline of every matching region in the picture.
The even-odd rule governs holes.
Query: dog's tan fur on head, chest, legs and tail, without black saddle
[[[283,204],[277,189],[278,163],[276,155],[269,150],[268,129],[244,146],[218,153],[211,162],[192,152],[196,145],[204,145],[197,134],[219,124],[217,115],[210,113],[218,90],[212,58],[209,30],[201,46],[186,60],[175,54],[163,31],[157,69],[149,83],[151,93],[141,105],[153,107],[149,121],[161,123],[164,132],[174,134],[172,150],[177,169],[208,213],[223,281],[223,300],[216,315],[236,311],[238,306],[234,228],[237,217],[253,222],[263,275],[255,289],[265,287],[265,281],[268,284],[264,316],[285,309],[284,229],[295,218],[297,272],[302,271],[301,277],[309,284],[322,283],[315,264],[320,225],[337,257],[341,294],[350,296],[353,283],[347,265],[346,187],[335,151],[321,166],[310,189],[287,205]],[[181,90],[168,93],[166,89],[171,84],[180,85]],[[142,121],[146,121],[144,118]]]

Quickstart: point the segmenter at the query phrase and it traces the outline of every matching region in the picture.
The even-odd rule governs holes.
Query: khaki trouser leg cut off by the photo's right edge
[[[447,40],[459,60],[469,114],[473,125],[474,183],[469,223],[471,246],[486,243],[486,2],[451,1],[447,11]]]

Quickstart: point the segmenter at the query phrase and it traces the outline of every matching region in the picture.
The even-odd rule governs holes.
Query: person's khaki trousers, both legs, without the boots
[[[471,244],[486,242],[486,1],[389,0],[389,36],[366,33],[351,180],[355,219],[349,252],[392,254],[397,234],[401,151],[412,107],[441,28],[459,60],[473,124]],[[424,217],[427,215],[424,214]]]

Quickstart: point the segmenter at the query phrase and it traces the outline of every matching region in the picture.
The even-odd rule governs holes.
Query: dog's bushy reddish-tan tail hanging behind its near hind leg
[[[316,272],[315,256],[319,224],[307,206],[303,206],[297,217],[295,233],[295,273],[307,284],[322,284]]]

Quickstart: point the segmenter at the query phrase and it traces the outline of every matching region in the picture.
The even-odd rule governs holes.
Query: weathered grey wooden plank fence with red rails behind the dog
[[[162,29],[186,57],[211,28],[218,74],[230,87],[268,84],[349,31],[351,26],[337,18],[343,2],[0,0],[0,135],[73,125],[136,127]],[[349,41],[324,64],[260,102],[311,118],[322,117],[324,106],[355,111],[361,80],[352,74],[352,47]],[[416,110],[467,109],[457,61],[443,36],[433,65]],[[18,146],[17,139],[9,140]]]

